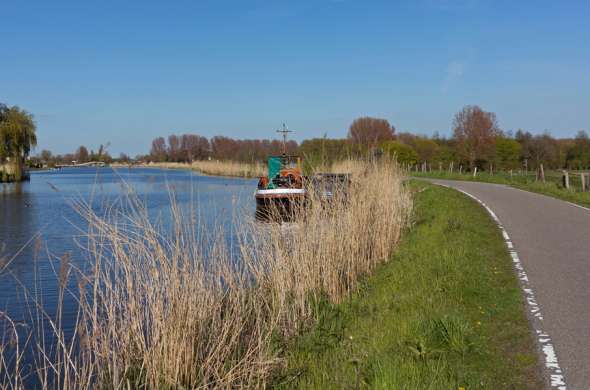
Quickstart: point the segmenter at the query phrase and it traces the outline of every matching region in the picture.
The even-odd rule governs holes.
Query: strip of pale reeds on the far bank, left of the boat
[[[192,163],[146,163],[139,165],[111,164],[113,168],[121,167],[145,167],[145,168],[163,168],[163,169],[187,169],[211,176],[243,177],[255,178],[264,176],[266,170],[260,163],[240,163],[235,161],[193,161]]]

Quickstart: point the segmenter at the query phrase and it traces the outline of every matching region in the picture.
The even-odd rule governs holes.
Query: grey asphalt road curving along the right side
[[[590,389],[590,210],[504,185],[431,181],[475,196],[496,214],[542,313],[528,310],[533,329],[544,332],[537,339],[550,337],[556,352],[552,363],[552,352],[540,351],[547,380],[561,369],[567,389]],[[564,388],[553,379],[552,388]]]

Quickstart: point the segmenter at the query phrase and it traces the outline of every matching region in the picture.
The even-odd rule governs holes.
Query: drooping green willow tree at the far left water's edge
[[[14,179],[22,180],[23,166],[31,148],[37,145],[33,116],[19,107],[0,106],[0,160],[14,164]]]

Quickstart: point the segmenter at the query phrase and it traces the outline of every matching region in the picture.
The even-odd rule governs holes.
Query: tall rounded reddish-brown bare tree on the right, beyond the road
[[[473,169],[476,160],[492,156],[500,129],[493,112],[484,111],[479,106],[465,106],[455,114],[453,132],[459,151]]]

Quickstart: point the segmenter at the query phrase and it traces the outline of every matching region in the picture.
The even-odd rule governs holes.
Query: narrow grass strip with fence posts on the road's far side
[[[471,174],[459,174],[448,172],[411,172],[414,177],[429,177],[446,180],[479,181],[486,183],[507,184],[525,191],[536,192],[554,198],[566,200],[582,206],[590,207],[590,192],[581,191],[581,180],[579,175],[570,173],[570,189],[565,189],[561,183],[561,172],[550,171],[545,175],[546,183],[535,180],[534,173],[528,176],[510,174],[506,172],[490,175],[489,173],[478,173],[477,177]]]

